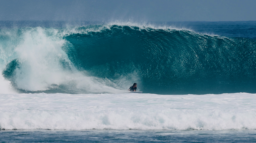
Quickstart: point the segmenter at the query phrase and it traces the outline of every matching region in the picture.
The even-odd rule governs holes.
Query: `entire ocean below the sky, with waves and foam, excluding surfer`
[[[0,142],[256,141],[256,21],[0,21],[0,71]]]

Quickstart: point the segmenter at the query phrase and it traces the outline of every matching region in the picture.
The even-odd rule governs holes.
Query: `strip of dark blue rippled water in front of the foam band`
[[[0,142],[187,142],[187,143],[240,143],[255,142],[255,130],[231,131],[166,131],[166,130],[11,130],[0,131]]]

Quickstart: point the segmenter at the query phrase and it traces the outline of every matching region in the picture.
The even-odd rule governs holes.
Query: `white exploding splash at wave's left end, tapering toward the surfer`
[[[5,47],[0,45],[0,70],[3,71],[9,62],[17,59],[19,67],[16,68],[14,77],[17,88],[42,91],[56,85],[66,85],[89,93],[123,93],[106,86],[104,79],[100,82],[95,80],[95,77],[89,77],[76,70],[62,50],[62,46],[68,42],[62,37],[65,32],[52,28],[25,28],[19,35],[20,41],[14,40],[16,31],[12,32],[1,33],[9,38],[9,41],[5,41],[9,44]],[[61,62],[65,62],[68,67],[63,68]],[[5,81],[2,76],[0,80],[1,88],[7,90],[11,87],[10,82]],[[8,93],[6,90],[0,93]]]

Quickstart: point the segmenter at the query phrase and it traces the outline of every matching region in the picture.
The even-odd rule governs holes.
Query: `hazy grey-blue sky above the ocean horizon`
[[[256,0],[0,0],[0,20],[248,21]]]

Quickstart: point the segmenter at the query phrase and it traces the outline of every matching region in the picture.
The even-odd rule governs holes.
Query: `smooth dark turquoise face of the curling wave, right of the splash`
[[[116,84],[125,77],[157,94],[255,93],[253,39],[117,25],[64,38],[77,69]]]

